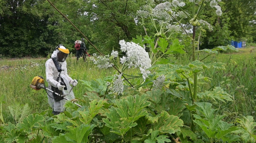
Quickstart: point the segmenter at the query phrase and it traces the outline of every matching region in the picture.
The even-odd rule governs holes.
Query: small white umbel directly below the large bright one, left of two
[[[124,82],[122,80],[122,74],[119,75],[114,75],[113,78],[113,87],[111,88],[110,93],[117,93],[117,94],[122,94],[124,91]]]

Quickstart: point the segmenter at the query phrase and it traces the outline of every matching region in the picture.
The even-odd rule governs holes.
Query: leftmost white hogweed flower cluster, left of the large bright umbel
[[[107,57],[97,56],[96,54],[92,54],[92,55],[94,57],[90,57],[90,60],[93,61],[93,63],[96,64],[98,68],[112,67]]]

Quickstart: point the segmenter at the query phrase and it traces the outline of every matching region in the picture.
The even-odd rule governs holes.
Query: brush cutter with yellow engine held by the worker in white
[[[61,82],[61,85],[64,85],[63,82]],[[65,96],[68,95],[68,94],[70,94],[70,92],[72,91],[72,89],[73,89],[74,86],[72,86],[72,88],[70,89],[70,91],[68,92],[68,94],[66,94],[66,95],[61,95],[60,93],[56,93],[56,92],[52,91],[51,89],[46,88],[46,87],[45,87],[45,84],[44,84],[44,78],[43,78],[42,76],[36,76],[36,77],[34,77],[33,80],[31,81],[30,87],[31,87],[32,89],[35,89],[35,90],[40,90],[41,88],[44,88],[45,91],[48,90],[48,91],[52,92],[53,94],[64,98],[65,100],[71,101],[71,100],[65,98]],[[47,92],[46,92],[46,93],[47,93]],[[49,96],[49,95],[48,95],[48,96]],[[51,96],[50,96],[50,97],[51,97]],[[51,97],[51,98],[52,98],[52,97]],[[75,103],[74,101],[71,101],[71,102],[73,102],[74,104],[76,104],[78,107],[82,107],[81,105]]]

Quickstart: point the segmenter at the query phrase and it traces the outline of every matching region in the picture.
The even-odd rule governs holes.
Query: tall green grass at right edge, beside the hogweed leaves
[[[205,88],[221,86],[233,97],[233,107],[227,109],[236,116],[256,117],[256,49],[239,49],[238,53],[220,53],[208,60],[226,63],[226,70],[208,70],[212,81]]]

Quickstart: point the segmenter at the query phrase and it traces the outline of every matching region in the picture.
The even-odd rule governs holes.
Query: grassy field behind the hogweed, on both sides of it
[[[43,89],[36,91],[29,87],[31,80],[35,76],[43,76],[45,78],[44,64],[46,60],[46,58],[0,60],[0,95],[3,100],[2,114],[5,121],[12,121],[13,117],[10,114],[10,108],[15,108],[16,104],[27,103],[31,109],[31,113],[50,109],[46,92]],[[78,81],[104,78],[117,73],[113,68],[98,69],[90,60],[86,63],[82,62],[82,60],[76,62],[76,59],[70,56],[66,61],[68,75],[73,79],[78,79]],[[207,61],[223,62],[227,66],[226,70],[205,72],[204,75],[212,78],[212,80],[209,84],[204,85],[202,90],[210,89],[212,86],[223,87],[234,98],[234,108],[228,110],[237,114],[253,115],[255,117],[256,48],[240,48],[238,53],[211,55],[203,62]],[[182,63],[182,61],[177,62]],[[77,98],[83,98],[86,92],[83,86],[82,84],[78,84],[73,89]]]

